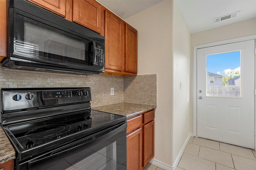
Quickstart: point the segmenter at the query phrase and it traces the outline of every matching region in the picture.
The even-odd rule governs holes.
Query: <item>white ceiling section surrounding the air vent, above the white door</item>
[[[190,33],[256,17],[256,0],[176,0],[176,2]],[[240,13],[236,18],[213,23],[214,18],[238,11]]]

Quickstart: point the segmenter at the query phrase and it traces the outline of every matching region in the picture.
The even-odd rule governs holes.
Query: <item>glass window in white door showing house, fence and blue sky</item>
[[[206,96],[241,96],[241,51],[206,56]]]

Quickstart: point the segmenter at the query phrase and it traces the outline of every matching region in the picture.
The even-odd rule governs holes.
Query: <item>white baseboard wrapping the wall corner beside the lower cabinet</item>
[[[177,156],[177,158],[176,158],[176,160],[175,160],[173,166],[170,166],[170,165],[168,165],[168,164],[165,164],[165,163],[163,163],[163,162],[160,162],[159,160],[156,160],[155,158],[153,158],[152,160],[150,160],[150,163],[151,163],[151,164],[154,164],[154,165],[156,165],[156,166],[159,166],[160,168],[163,168],[163,169],[165,169],[165,170],[175,170],[176,167],[177,167],[177,165],[178,165],[178,163],[179,163],[179,161],[180,161],[180,158],[181,158],[181,156],[182,156],[182,154],[183,154],[183,152],[184,152],[184,150],[185,150],[185,147],[186,147],[186,145],[188,144],[188,141],[189,141],[190,137],[192,137],[192,136],[193,136],[193,133],[189,133],[189,134],[188,134],[188,137],[187,137],[187,139],[186,139],[184,145],[182,146],[182,148],[181,148],[181,150],[180,150],[180,153],[178,154],[178,156]]]

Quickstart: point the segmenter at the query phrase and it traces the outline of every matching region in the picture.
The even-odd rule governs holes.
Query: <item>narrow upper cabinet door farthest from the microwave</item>
[[[125,71],[137,73],[137,30],[126,24]]]

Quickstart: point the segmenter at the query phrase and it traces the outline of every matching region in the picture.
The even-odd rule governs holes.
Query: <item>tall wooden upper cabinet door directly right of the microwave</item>
[[[105,68],[122,71],[124,21],[108,10],[105,17]]]

